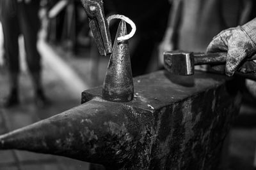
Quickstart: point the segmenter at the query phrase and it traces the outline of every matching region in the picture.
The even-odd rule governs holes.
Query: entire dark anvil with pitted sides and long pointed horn
[[[161,82],[161,83],[159,83]],[[234,80],[216,74],[134,79],[134,99],[101,99],[0,136],[0,149],[29,150],[103,164],[108,169],[216,169],[241,96]]]

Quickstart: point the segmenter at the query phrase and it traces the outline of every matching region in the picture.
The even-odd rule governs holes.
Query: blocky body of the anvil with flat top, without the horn
[[[239,111],[238,84],[199,72],[188,77],[159,71],[135,78],[134,100],[124,105],[136,117],[143,110],[149,118],[142,120],[148,126],[139,133],[139,151],[125,160],[124,169],[216,169]],[[82,103],[95,96],[100,96],[100,87],[84,91]]]

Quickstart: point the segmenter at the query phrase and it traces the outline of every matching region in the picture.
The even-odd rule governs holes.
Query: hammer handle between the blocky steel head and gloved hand
[[[250,57],[248,60],[255,60],[256,55]],[[213,64],[220,65],[225,64],[227,60],[227,52],[218,52],[218,53],[194,53],[194,64]]]

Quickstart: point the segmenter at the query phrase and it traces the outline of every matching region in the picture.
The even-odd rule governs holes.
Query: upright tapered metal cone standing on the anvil
[[[128,40],[118,41],[125,36],[127,28],[122,20],[116,32],[113,53],[110,56],[108,71],[105,76],[102,97],[108,101],[128,102],[133,99],[133,80]]]

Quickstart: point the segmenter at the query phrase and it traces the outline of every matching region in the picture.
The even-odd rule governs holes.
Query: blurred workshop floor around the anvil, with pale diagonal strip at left
[[[29,74],[26,71],[26,66],[22,66],[23,71],[20,75],[21,104],[11,109],[0,108],[0,134],[76,106],[80,103],[82,90],[100,85],[102,82],[108,64],[107,57],[100,58],[99,81],[95,82],[91,78],[92,61],[88,57],[88,52],[85,51],[83,56],[70,57],[72,54],[58,50],[58,48],[51,48],[44,43],[39,45],[39,48],[43,56],[45,92],[52,104],[45,108],[35,106]],[[8,74],[6,67],[0,66],[0,99],[7,94]],[[228,169],[253,169],[256,149],[255,110],[250,110],[247,106],[243,107],[243,114],[239,116],[236,126],[230,132],[229,143],[230,156],[226,158]],[[0,170],[86,170],[88,168],[89,164],[86,162],[63,157],[16,150],[0,151]]]

